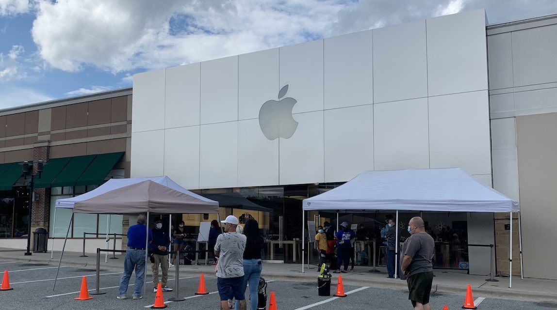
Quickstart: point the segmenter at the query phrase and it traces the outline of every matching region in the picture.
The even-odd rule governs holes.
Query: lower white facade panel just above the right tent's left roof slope
[[[373,105],[325,111],[325,182],[373,170]]]

